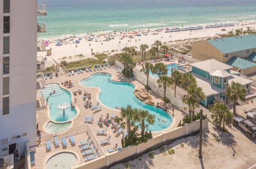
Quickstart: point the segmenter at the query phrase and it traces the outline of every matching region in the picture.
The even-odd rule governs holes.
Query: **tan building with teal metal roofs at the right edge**
[[[251,62],[256,52],[255,40],[256,34],[250,34],[200,41],[193,44],[192,55],[201,61],[214,58],[247,75],[256,72],[256,63]]]

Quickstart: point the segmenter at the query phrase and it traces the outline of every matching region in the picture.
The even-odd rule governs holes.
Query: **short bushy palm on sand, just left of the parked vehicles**
[[[233,113],[229,111],[228,106],[225,103],[217,102],[210,108],[211,117],[213,119],[213,122],[215,123],[215,126],[218,129],[221,129],[225,131],[225,123],[227,125],[232,123],[232,118],[234,116]]]

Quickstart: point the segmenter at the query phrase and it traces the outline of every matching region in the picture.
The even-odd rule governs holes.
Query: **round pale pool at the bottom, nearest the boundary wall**
[[[52,156],[46,163],[46,169],[69,169],[76,166],[77,157],[73,153],[63,152]]]

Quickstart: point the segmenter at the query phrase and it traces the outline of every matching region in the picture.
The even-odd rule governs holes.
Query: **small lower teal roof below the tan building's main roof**
[[[230,66],[238,67],[239,69],[247,69],[249,67],[256,66],[256,63],[244,60],[241,57],[233,56],[228,60],[226,64],[229,64]]]

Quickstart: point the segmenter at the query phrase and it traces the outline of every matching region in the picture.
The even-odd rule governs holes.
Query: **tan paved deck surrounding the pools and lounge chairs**
[[[165,63],[165,62],[163,62],[163,63]],[[167,62],[167,63],[170,64],[170,62]],[[140,69],[140,67],[138,67],[138,69]],[[45,164],[46,164],[47,160],[53,154],[61,152],[61,151],[65,151],[65,150],[74,151],[74,152],[76,152],[76,154],[79,155],[78,164],[85,163],[85,159],[84,159],[83,154],[79,147],[79,142],[82,140],[86,140],[88,138],[88,135],[86,133],[87,129],[85,128],[85,124],[84,124],[85,116],[94,114],[93,123],[89,124],[89,125],[90,125],[90,128],[92,129],[93,133],[95,134],[95,136],[96,136],[97,130],[99,130],[99,129],[102,130],[102,129],[106,128],[106,126],[104,124],[103,124],[103,128],[100,128],[97,123],[101,114],[103,117],[106,117],[107,113],[109,113],[109,115],[115,114],[115,115],[120,116],[120,111],[118,109],[108,108],[101,103],[100,103],[100,106],[102,107],[102,110],[100,112],[94,112],[90,108],[84,107],[83,94],[74,96],[73,90],[81,89],[82,93],[84,93],[84,91],[86,90],[86,92],[90,92],[92,94],[90,101],[92,102],[93,105],[96,104],[97,102],[100,102],[100,100],[98,99],[98,94],[100,91],[99,88],[83,87],[83,86],[79,85],[80,80],[82,80],[86,77],[89,77],[91,74],[97,73],[97,72],[98,73],[99,72],[100,73],[101,72],[111,73],[111,74],[113,74],[113,77],[112,77],[113,80],[116,80],[116,81],[121,81],[121,80],[129,81],[129,79],[121,77],[121,74],[119,73],[120,71],[116,71],[114,69],[114,67],[112,67],[112,68],[107,67],[107,69],[103,69],[101,71],[93,71],[93,72],[85,72],[84,71],[81,74],[75,73],[75,75],[71,75],[71,76],[68,76],[67,74],[65,74],[65,75],[59,75],[58,78],[56,78],[56,77],[53,77],[52,79],[47,78],[47,80],[45,81],[46,84],[52,83],[52,82],[57,82],[57,83],[61,84],[66,80],[68,80],[68,81],[71,80],[71,82],[73,82],[75,84],[74,87],[71,87],[69,89],[67,87],[64,87],[63,85],[61,85],[61,87],[70,91],[73,101],[76,98],[77,103],[75,104],[75,107],[77,109],[78,114],[75,117],[75,119],[72,120],[73,124],[71,125],[72,126],[71,129],[69,129],[68,131],[63,132],[63,133],[58,133],[60,146],[54,147],[53,136],[55,134],[50,134],[45,131],[45,126],[50,120],[49,119],[49,106],[47,106],[45,109],[41,109],[36,112],[37,113],[37,123],[39,123],[39,130],[42,131],[42,133],[41,133],[42,137],[41,137],[41,141],[38,142],[38,145],[36,148],[36,153],[35,153],[36,162],[35,162],[35,165],[32,166],[33,168],[45,168]],[[137,89],[144,88],[144,86],[136,80],[133,80],[131,82],[136,86]],[[163,102],[161,97],[154,94],[154,92],[150,92],[150,95],[153,97],[154,103],[162,103]],[[182,120],[182,118],[184,116],[185,116],[185,114],[181,113],[177,108],[175,108],[173,123],[169,126],[169,128],[165,129],[164,131],[176,128],[178,126],[179,121]],[[122,147],[121,139],[123,137],[123,134],[120,134],[119,137],[115,137],[116,133],[114,133],[113,131],[114,130],[111,129],[111,125],[110,125],[107,129],[107,136],[109,136],[109,135],[111,136],[111,140],[110,140],[111,143],[110,143],[110,145],[102,146],[104,153],[107,153],[107,149],[113,148],[116,143],[118,144],[118,147]],[[153,136],[156,136],[156,134],[158,134],[159,132],[162,132],[162,131],[153,132]],[[61,143],[61,138],[63,136],[66,136],[68,139],[68,136],[70,136],[71,134],[74,135],[76,144],[71,145],[70,142],[68,141],[67,147],[63,148],[62,143]],[[106,139],[106,136],[96,136],[96,138],[98,141],[100,141],[100,140]],[[52,140],[52,144],[51,144],[52,148],[51,148],[51,151],[49,151],[49,152],[46,152],[46,147],[45,147],[45,143],[46,143],[47,139]]]

